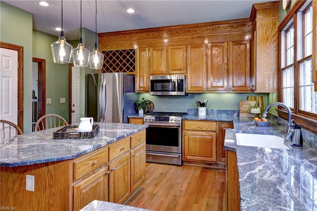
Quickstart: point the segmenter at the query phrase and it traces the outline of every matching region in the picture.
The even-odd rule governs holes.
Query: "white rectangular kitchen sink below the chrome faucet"
[[[236,133],[236,140],[242,146],[290,149],[284,144],[284,138],[276,135]]]

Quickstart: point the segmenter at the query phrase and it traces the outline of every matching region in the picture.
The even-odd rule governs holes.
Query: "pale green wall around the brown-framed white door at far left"
[[[23,130],[32,130],[32,14],[0,1],[0,41],[23,46]]]

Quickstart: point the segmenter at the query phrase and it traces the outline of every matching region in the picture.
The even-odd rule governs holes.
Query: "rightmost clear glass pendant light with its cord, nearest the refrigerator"
[[[90,53],[90,59],[89,59],[89,66],[90,69],[94,70],[100,70],[103,67],[103,61],[104,61],[104,54],[99,52],[98,45],[97,45],[97,0],[95,0],[96,3],[96,17],[95,17],[95,24],[96,24],[96,35],[95,35],[95,47],[93,51]]]

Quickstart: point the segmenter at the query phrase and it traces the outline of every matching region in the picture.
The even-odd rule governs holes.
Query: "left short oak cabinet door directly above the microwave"
[[[150,75],[167,73],[167,47],[150,47]]]

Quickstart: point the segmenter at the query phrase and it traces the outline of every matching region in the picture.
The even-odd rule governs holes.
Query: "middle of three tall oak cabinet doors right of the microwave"
[[[207,56],[207,76],[209,91],[226,91],[228,43],[209,43]]]

